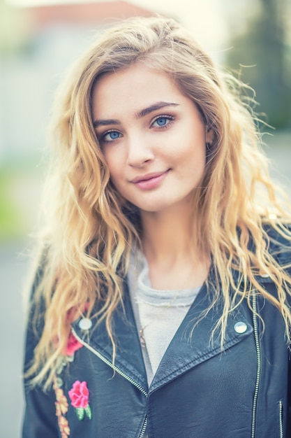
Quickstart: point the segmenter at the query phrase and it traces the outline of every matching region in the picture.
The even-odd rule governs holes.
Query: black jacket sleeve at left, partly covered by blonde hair
[[[36,274],[36,281],[39,275]],[[34,291],[33,285],[33,291]],[[33,296],[33,292],[31,294]],[[33,326],[33,306],[29,312],[27,323],[27,338],[25,344],[24,372],[29,369],[33,361],[33,351],[43,331],[43,321]],[[40,387],[29,385],[29,379],[24,378],[25,410],[22,428],[22,438],[58,438],[55,394],[51,389],[44,392]]]

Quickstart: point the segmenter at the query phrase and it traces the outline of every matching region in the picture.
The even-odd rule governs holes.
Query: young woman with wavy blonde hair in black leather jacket
[[[290,436],[291,215],[241,87],[161,17],[70,73],[23,437]]]

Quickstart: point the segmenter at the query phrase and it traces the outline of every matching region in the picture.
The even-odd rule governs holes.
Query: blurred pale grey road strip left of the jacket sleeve
[[[22,283],[28,260],[20,255],[24,243],[0,248],[2,302],[0,308],[0,437],[20,437],[23,396],[21,385],[24,311]],[[43,437],[45,438],[45,437]]]

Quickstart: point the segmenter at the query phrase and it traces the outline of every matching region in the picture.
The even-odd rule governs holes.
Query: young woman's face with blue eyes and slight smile
[[[189,204],[209,134],[169,76],[137,63],[101,77],[93,120],[111,181],[125,199],[148,212]]]

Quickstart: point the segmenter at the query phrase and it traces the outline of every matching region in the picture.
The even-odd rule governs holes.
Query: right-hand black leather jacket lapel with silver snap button
[[[151,383],[150,392],[221,353],[219,329],[213,339],[211,333],[222,314],[223,304],[221,302],[216,304],[206,313],[212,299],[211,288],[207,290],[207,286],[203,285],[161,360]],[[236,331],[236,323],[243,323],[239,325],[243,327],[243,332],[238,328]],[[241,311],[233,311],[227,320],[224,350],[238,344],[252,332],[253,326],[246,316]]]

